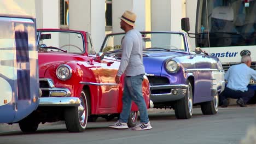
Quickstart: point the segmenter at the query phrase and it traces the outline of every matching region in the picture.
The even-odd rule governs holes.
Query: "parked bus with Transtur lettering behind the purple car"
[[[225,71],[251,55],[256,70],[256,0],[197,0],[187,5],[194,47],[218,57]]]

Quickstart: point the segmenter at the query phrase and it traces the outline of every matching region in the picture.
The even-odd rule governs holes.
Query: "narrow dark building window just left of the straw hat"
[[[105,3],[105,29],[112,31],[112,0],[106,0]]]

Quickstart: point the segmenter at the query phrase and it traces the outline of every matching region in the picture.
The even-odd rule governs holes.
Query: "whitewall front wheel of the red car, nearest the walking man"
[[[65,110],[65,123],[70,132],[82,132],[88,122],[88,104],[86,91],[80,93],[81,104],[78,107],[68,107]]]

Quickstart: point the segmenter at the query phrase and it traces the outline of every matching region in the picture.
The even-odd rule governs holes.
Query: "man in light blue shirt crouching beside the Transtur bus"
[[[237,99],[236,103],[245,107],[246,103],[254,96],[254,90],[247,88],[251,78],[256,80],[256,71],[251,67],[250,56],[243,56],[241,64],[232,65],[225,73],[225,80],[228,85],[220,93],[219,101],[222,107],[228,107],[229,101],[226,98]]]

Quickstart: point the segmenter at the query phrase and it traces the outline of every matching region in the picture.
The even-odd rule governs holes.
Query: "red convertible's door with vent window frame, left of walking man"
[[[94,59],[96,57],[94,52],[94,48],[92,47],[92,41],[90,34],[88,34],[88,51],[91,58]],[[98,71],[98,112],[101,114],[104,113],[116,113],[117,105],[119,100],[119,86],[115,82],[115,75],[117,74],[120,60],[106,57],[102,60],[96,59],[95,64],[97,65]]]

